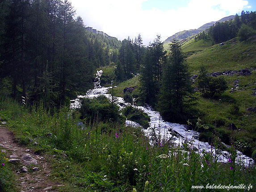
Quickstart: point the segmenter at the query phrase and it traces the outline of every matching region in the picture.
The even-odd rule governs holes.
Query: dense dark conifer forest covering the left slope
[[[67,0],[4,0],[1,8],[0,82],[8,96],[59,108],[93,87],[97,67],[117,60],[121,42],[88,31]]]

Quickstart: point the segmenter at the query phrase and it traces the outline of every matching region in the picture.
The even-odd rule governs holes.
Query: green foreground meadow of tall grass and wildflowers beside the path
[[[105,98],[98,101],[104,102]],[[55,154],[55,158],[49,161],[52,167],[50,176],[64,184],[58,188],[61,192],[133,189],[167,192],[191,191],[193,185],[206,186],[208,183],[256,184],[255,168],[233,163],[235,154],[232,154],[231,163],[218,163],[218,155],[198,154],[186,142],[181,150],[158,134],[155,135],[158,143],[151,146],[140,129],[129,126],[94,123],[81,129],[77,125],[77,113],[65,108],[51,116],[43,108],[32,109],[29,113],[10,100],[1,100],[0,106],[0,115],[11,113],[13,109],[21,112],[20,116],[11,113],[8,119],[17,139],[29,132],[29,138],[38,145],[29,143],[28,147],[43,154]],[[152,131],[157,133],[157,130]],[[3,162],[2,156],[0,153]],[[0,167],[1,179],[8,178],[10,171],[2,171],[7,167],[8,163],[6,167]],[[9,178],[4,180],[5,186],[13,186],[9,181]],[[11,190],[13,188],[6,189]]]

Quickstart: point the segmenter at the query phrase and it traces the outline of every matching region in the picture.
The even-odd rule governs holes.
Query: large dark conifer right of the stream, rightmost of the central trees
[[[182,122],[185,121],[184,109],[191,103],[193,89],[179,42],[173,40],[169,50],[159,92],[159,111],[166,120]]]

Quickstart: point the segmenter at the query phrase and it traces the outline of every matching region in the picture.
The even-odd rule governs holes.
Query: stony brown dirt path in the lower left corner
[[[16,163],[17,187],[21,192],[54,192],[61,186],[50,179],[50,157],[36,155],[32,150],[19,145],[6,127],[0,126],[0,147],[9,161]],[[22,167],[26,170],[22,171]]]

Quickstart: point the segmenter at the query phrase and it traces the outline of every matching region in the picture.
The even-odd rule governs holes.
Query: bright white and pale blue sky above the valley
[[[138,37],[143,45],[156,35],[197,29],[223,17],[256,11],[256,0],[70,0],[84,25],[119,40]]]

